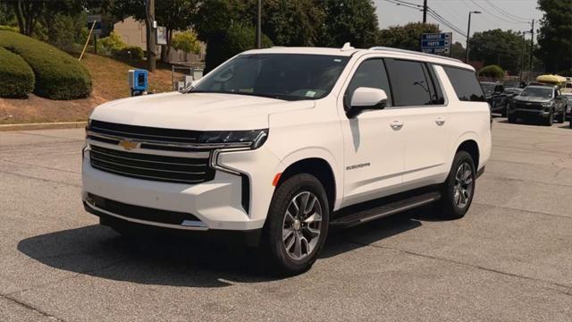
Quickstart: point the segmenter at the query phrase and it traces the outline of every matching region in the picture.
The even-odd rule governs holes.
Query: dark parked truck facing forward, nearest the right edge
[[[516,123],[518,118],[534,119],[551,126],[554,121],[564,123],[566,114],[565,97],[560,94],[558,86],[527,86],[509,103],[509,123]]]

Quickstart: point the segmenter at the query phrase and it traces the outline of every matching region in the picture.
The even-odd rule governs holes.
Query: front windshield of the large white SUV
[[[189,93],[322,98],[332,90],[348,61],[347,56],[335,55],[239,55],[206,75]]]

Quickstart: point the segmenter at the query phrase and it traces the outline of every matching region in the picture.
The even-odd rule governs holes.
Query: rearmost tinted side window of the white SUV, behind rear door
[[[455,67],[443,66],[457,97],[462,101],[485,102],[483,89],[476,80],[475,72]]]

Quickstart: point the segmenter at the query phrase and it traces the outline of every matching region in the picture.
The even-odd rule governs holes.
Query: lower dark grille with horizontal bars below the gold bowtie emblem
[[[91,166],[111,174],[159,182],[191,183],[214,179],[208,157],[170,157],[91,145]]]

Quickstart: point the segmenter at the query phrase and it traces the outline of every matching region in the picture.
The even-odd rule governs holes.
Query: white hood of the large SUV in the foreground
[[[311,100],[221,93],[169,92],[114,100],[97,106],[90,118],[130,125],[196,131],[268,128],[270,114],[314,107]]]

